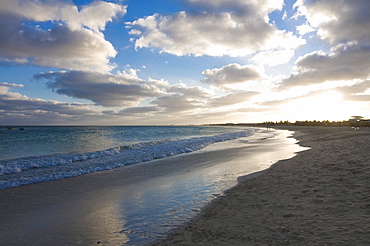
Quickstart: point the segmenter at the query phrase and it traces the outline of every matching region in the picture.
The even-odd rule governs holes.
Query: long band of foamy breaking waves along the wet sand
[[[248,137],[255,130],[189,139],[166,139],[90,153],[20,158],[0,164],[0,189],[75,177],[200,150],[210,144]]]

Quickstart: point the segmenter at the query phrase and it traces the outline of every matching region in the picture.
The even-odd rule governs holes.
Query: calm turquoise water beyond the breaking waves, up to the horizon
[[[132,143],[216,135],[235,128],[205,126],[0,127],[0,160],[105,150]]]

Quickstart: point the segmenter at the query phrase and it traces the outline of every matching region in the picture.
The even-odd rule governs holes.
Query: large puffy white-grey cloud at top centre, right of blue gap
[[[273,1],[189,2],[207,6],[208,11],[181,11],[169,16],[154,14],[127,23],[133,28],[130,33],[139,35],[135,47],[158,48],[160,52],[177,56],[238,57],[258,50],[294,49],[305,43],[268,22],[268,13],[280,9],[282,1],[276,1],[278,4]]]

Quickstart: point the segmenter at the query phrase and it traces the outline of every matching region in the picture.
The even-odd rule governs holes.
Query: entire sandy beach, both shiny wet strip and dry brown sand
[[[369,245],[370,130],[281,129],[0,190],[1,244]]]

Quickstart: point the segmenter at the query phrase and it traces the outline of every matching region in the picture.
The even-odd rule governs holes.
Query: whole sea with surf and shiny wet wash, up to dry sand
[[[17,245],[150,244],[302,150],[247,127],[23,128],[0,128],[0,231]]]

